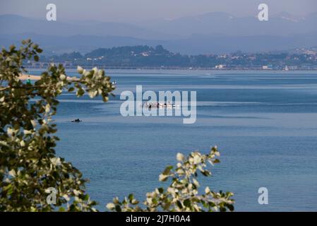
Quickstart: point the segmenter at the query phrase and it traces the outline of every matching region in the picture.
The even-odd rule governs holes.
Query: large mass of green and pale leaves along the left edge
[[[65,90],[78,96],[101,95],[104,102],[114,90],[104,71],[85,71],[68,78],[63,66],[49,66],[34,84],[23,83],[23,61],[39,60],[37,44],[24,40],[0,53],[0,211],[95,211],[96,202],[85,194],[85,182],[71,162],[55,154],[56,98]],[[47,203],[47,189],[57,191],[56,205]]]

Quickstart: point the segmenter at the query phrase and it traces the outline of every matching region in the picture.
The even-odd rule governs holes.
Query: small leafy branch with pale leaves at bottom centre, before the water
[[[130,194],[128,198],[119,201],[114,198],[113,203],[108,203],[107,208],[112,211],[226,211],[234,210],[234,200],[232,192],[215,192],[210,191],[209,187],[205,188],[205,194],[198,195],[199,183],[196,179],[200,172],[203,176],[208,177],[211,172],[206,169],[207,163],[214,165],[220,162],[217,159],[220,153],[217,148],[211,148],[210,153],[202,155],[199,152],[193,152],[188,157],[181,153],[177,154],[177,167],[169,166],[162,174],[160,181],[171,180],[171,184],[164,189],[162,187],[155,189],[146,194],[143,206],[139,201]]]

